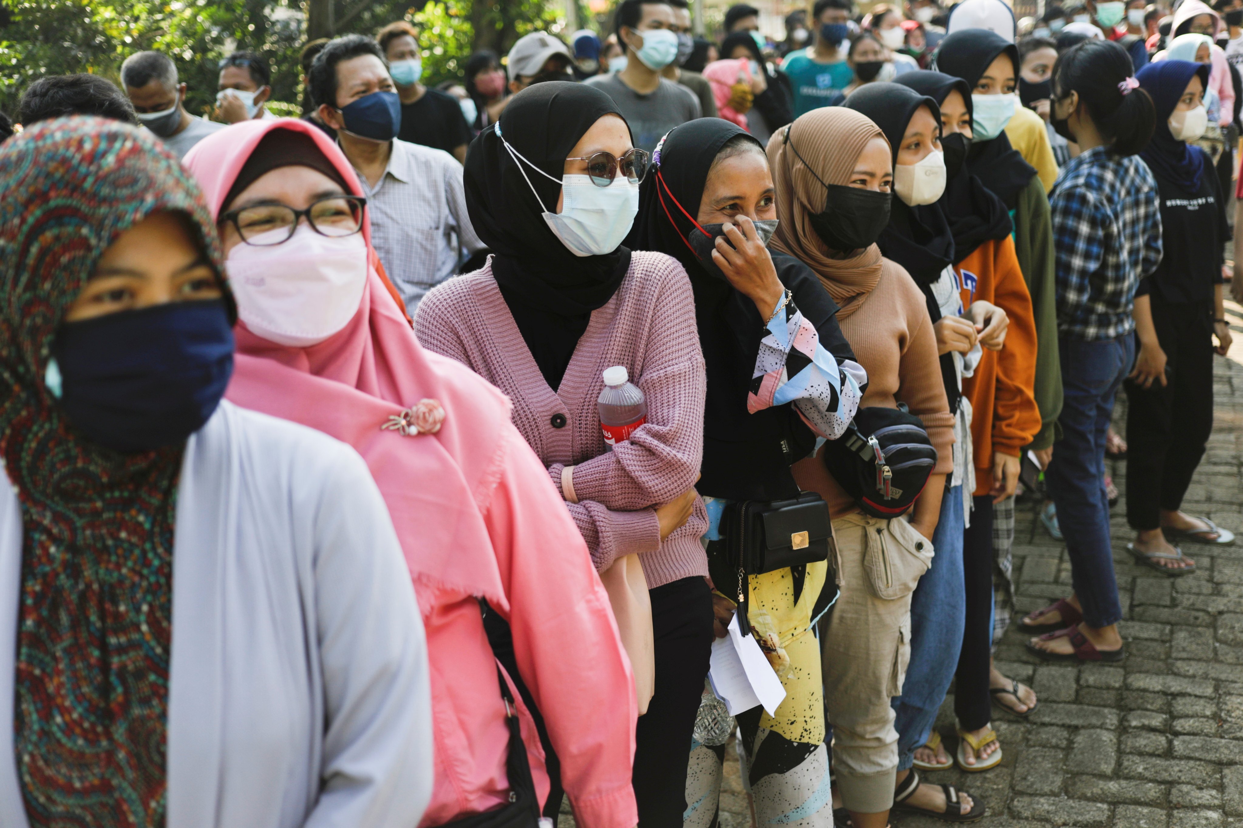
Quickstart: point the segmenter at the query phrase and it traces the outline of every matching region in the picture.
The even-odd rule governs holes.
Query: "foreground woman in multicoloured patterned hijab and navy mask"
[[[232,299],[193,179],[86,117],[10,139],[0,179],[0,823],[418,823],[393,523],[353,449],[221,402]]]

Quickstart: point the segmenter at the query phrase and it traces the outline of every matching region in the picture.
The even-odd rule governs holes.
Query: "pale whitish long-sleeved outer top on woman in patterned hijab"
[[[431,796],[423,621],[363,459],[221,402],[190,437],[173,542],[169,828],[411,828]],[[21,511],[0,475],[0,722]],[[12,726],[0,828],[27,828]]]

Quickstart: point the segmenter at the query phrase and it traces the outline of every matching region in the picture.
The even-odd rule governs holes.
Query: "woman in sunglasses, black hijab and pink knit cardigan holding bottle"
[[[513,421],[547,466],[595,569],[641,561],[655,694],[639,719],[634,792],[641,824],[681,826],[712,646],[700,544],[707,518],[692,488],[705,377],[686,272],[667,256],[622,245],[648,165],[602,91],[549,81],[513,96],[466,156],[471,223],[496,254],[429,293],[415,330],[426,348],[510,396]],[[614,366],[643,391],[648,411],[610,451],[597,401],[602,374]],[[559,715],[539,706],[546,718]]]

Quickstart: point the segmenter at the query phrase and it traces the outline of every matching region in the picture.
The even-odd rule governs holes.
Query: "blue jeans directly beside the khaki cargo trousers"
[[[902,695],[890,704],[897,718],[897,770],[915,761],[927,741],[958,665],[967,597],[962,580],[962,487],[946,489],[932,535],[936,556],[911,595],[911,663]]]

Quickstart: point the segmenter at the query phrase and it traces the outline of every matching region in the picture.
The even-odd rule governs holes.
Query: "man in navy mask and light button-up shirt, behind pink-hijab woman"
[[[444,150],[398,139],[401,99],[370,37],[329,41],[308,79],[319,118],[363,185],[372,246],[413,317],[428,290],[484,248],[466,214],[462,166]]]

